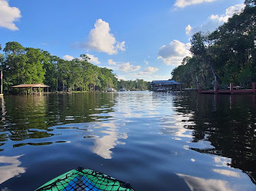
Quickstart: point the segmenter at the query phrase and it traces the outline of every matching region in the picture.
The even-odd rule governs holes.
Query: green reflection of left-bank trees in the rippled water
[[[52,129],[49,128],[54,125],[110,118],[110,116],[91,118],[90,115],[113,112],[113,96],[110,93],[5,96],[5,100],[3,98],[0,100],[0,111],[2,111],[0,146],[8,139],[23,141],[51,137],[54,134],[51,134]],[[22,145],[24,144],[16,146]]]

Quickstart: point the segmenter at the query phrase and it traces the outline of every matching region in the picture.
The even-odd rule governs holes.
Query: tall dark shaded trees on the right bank
[[[185,87],[212,88],[213,83],[251,86],[256,82],[256,3],[246,0],[245,9],[212,33],[195,33],[192,57],[172,70],[172,79]]]

